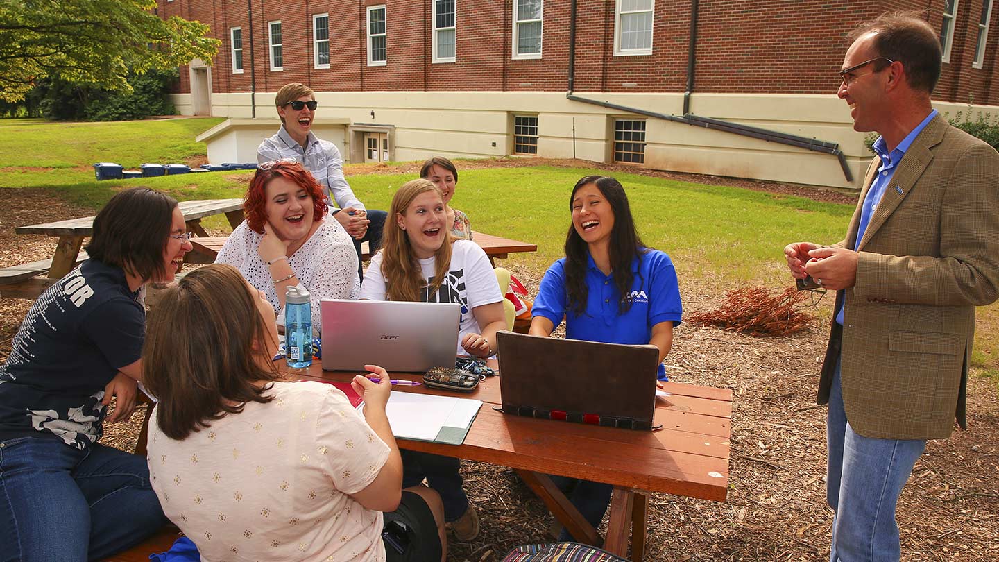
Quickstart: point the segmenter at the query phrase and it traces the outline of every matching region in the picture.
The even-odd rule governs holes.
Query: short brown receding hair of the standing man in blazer
[[[902,63],[909,87],[932,94],[940,79],[942,51],[936,32],[922,18],[923,14],[884,13],[855,27],[847,38],[855,40],[874,33],[877,54]]]

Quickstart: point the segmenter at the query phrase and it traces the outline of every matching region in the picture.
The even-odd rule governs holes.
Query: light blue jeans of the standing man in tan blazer
[[[826,499],[835,512],[830,562],[897,562],[895,506],[923,454],[922,439],[871,439],[846,420],[839,365],[829,391]]]

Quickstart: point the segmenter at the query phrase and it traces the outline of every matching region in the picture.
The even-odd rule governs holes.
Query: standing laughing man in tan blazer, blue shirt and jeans
[[[876,131],[846,239],[784,248],[836,291],[818,402],[828,402],[832,562],[897,561],[895,506],[927,439],[965,427],[975,306],[999,295],[999,154],[930,105],[940,43],[913,14],[858,27],[839,97]]]

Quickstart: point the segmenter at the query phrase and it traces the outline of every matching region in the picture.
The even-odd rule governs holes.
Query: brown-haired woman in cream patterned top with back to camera
[[[274,318],[228,265],[163,295],[143,361],[159,398],[149,466],[167,516],[205,560],[443,561],[440,496],[402,489],[385,369],[367,365],[379,380],[351,383],[362,417],[334,386],[284,380]]]

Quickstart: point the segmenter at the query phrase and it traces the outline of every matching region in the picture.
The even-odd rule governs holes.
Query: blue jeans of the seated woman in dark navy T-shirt
[[[145,457],[44,437],[0,442],[2,562],[105,558],[166,523]]]

